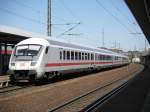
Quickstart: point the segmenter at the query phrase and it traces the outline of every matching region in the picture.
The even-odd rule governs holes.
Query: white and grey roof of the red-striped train
[[[22,44],[27,44],[27,43],[40,44],[43,46],[52,45],[52,46],[57,46],[59,48],[71,48],[71,49],[75,49],[75,50],[85,50],[85,51],[89,51],[89,52],[97,52],[97,53],[102,53],[102,54],[106,54],[106,55],[111,54],[111,55],[115,55],[115,56],[126,57],[122,54],[115,53],[115,52],[112,52],[109,50],[89,47],[89,46],[76,44],[76,43],[68,43],[64,40],[58,40],[53,37],[51,37],[51,38],[29,38],[29,39],[25,39],[25,40],[19,42],[17,45],[22,45]]]

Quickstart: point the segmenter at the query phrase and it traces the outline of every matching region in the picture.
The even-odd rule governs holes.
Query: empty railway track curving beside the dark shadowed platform
[[[135,72],[133,74],[138,74],[142,70],[143,69],[141,69],[140,71]],[[128,75],[128,76],[130,76],[130,75]],[[85,94],[83,94],[81,96],[75,97],[75,98],[73,98],[73,99],[71,99],[71,100],[69,100],[69,101],[67,101],[67,102],[65,102],[63,104],[60,104],[60,105],[58,105],[58,106],[56,106],[56,107],[54,107],[52,109],[49,109],[48,112],[66,112],[66,111],[69,111],[69,112],[71,112],[71,111],[92,112],[93,111],[94,112],[95,108],[98,105],[103,104],[105,101],[107,101],[112,96],[118,94],[121,90],[123,90],[123,88],[125,88],[128,85],[128,83],[132,80],[132,78],[129,81],[124,80],[128,76],[124,76],[122,78],[116,79],[116,80],[114,80],[112,82],[109,82],[109,83],[107,83],[107,84],[105,84],[105,85],[103,85],[101,87],[98,87],[98,88],[96,88],[94,90],[91,90],[91,91],[89,91],[89,92],[87,92],[87,93],[85,93]],[[78,110],[76,110],[76,109],[72,110],[72,108],[74,108],[76,104],[88,101],[87,100],[88,98],[92,98],[93,96],[99,94],[102,91],[102,89],[105,89],[108,86],[111,86],[112,84],[115,84],[115,83],[117,83],[119,81],[123,81],[123,83],[119,87],[113,89],[112,91],[108,92],[107,94],[103,95],[102,97],[98,97],[90,105],[88,105],[88,106],[87,105],[86,106],[82,105],[82,106],[77,107]]]

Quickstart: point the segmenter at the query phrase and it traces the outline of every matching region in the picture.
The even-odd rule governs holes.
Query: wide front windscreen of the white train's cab
[[[19,45],[16,47],[15,56],[37,56],[41,45]]]

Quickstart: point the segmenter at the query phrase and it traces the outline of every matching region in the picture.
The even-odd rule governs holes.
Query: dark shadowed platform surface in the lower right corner
[[[102,112],[150,112],[150,68],[99,108]]]

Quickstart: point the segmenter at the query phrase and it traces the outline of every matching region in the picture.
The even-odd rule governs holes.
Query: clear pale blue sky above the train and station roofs
[[[51,0],[51,9],[54,38],[124,51],[145,48],[145,36],[123,0]],[[0,25],[47,35],[47,0],[1,0]]]

